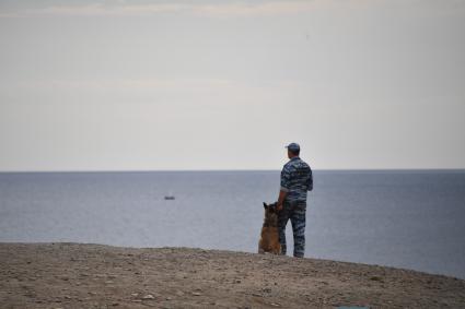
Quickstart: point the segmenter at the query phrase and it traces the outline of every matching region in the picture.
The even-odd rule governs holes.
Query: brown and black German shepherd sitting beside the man
[[[279,243],[279,234],[278,234],[278,212],[276,210],[276,204],[267,205],[264,202],[265,207],[265,219],[264,226],[261,227],[261,237],[258,242],[258,253],[281,253],[281,245]]]

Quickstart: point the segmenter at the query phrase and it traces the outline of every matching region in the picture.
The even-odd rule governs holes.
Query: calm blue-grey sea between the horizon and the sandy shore
[[[315,171],[314,182],[306,257],[465,278],[464,170]],[[0,173],[0,241],[256,252],[261,202],[278,190],[279,171]]]

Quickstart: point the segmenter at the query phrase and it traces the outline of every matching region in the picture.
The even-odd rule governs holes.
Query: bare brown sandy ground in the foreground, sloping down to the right
[[[0,243],[1,308],[465,308],[465,281],[216,250]]]

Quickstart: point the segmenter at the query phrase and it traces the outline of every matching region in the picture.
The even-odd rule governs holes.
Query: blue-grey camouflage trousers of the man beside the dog
[[[284,202],[282,210],[278,213],[279,242],[281,254],[286,255],[286,225],[291,219],[294,236],[294,257],[303,258],[305,252],[305,211],[306,202]]]

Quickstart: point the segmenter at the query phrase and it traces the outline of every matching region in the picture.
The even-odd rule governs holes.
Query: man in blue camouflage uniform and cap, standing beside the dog
[[[294,257],[303,258],[305,252],[306,192],[313,189],[312,169],[300,158],[300,146],[288,146],[289,162],[281,170],[281,189],[277,203],[279,242],[281,254],[286,254],[286,225],[291,219],[294,236]]]

